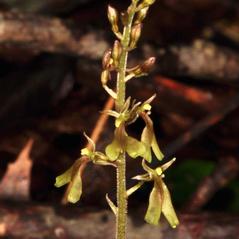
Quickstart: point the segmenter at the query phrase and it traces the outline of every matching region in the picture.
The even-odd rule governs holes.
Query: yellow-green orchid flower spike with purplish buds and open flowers
[[[152,181],[154,186],[149,196],[145,220],[150,224],[157,225],[162,213],[174,228],[179,221],[163,178],[165,170],[171,166],[175,158],[155,169],[150,167],[153,158],[152,152],[159,161],[164,157],[158,146],[153,121],[150,118],[151,103],[156,95],[144,102],[137,102],[132,100],[131,97],[125,100],[125,85],[128,81],[147,75],[155,63],[155,58],[150,57],[142,64],[127,68],[127,54],[136,48],[142,31],[142,21],[154,2],[155,0],[132,0],[127,11],[122,12],[120,15],[115,8],[108,6],[108,19],[117,39],[113,44],[113,48],[107,50],[103,56],[101,83],[106,92],[115,99],[116,107],[115,110],[107,110],[102,113],[115,118],[114,137],[106,146],[105,151],[100,152],[96,150],[93,140],[84,134],[90,147],[81,150],[81,157],[75,161],[70,169],[56,178],[55,185],[56,187],[61,187],[70,183],[67,200],[71,203],[76,203],[82,194],[82,173],[84,170],[82,165],[86,161],[87,163],[93,162],[98,165],[109,165],[118,168],[122,163],[122,155],[127,154],[129,158],[133,159],[140,157],[142,158],[142,168],[146,173],[133,177],[138,183],[128,189],[124,196],[128,198],[145,182]],[[124,27],[123,33],[120,32],[119,19],[121,19],[121,25]],[[108,86],[108,82],[112,78],[112,72],[117,73],[116,90]],[[141,118],[145,123],[140,140],[127,133],[127,126],[134,123],[138,118]],[[106,195],[106,200],[117,216],[120,202],[117,202],[116,206],[108,195]]]

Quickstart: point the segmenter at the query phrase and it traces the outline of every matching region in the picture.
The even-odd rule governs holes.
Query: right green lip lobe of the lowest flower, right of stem
[[[178,217],[172,205],[170,192],[163,181],[162,181],[162,188],[163,188],[162,212],[164,216],[166,217],[166,219],[168,220],[171,227],[175,228],[179,224]]]

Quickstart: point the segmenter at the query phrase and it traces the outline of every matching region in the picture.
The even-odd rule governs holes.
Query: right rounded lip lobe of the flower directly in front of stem
[[[131,158],[137,158],[138,156],[144,156],[146,152],[145,145],[133,137],[127,137],[126,152]]]

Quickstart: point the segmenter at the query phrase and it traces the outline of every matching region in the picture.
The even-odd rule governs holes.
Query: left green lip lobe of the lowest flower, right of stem
[[[149,196],[149,206],[145,215],[145,221],[152,225],[158,225],[162,211],[162,197],[156,186],[153,187]]]

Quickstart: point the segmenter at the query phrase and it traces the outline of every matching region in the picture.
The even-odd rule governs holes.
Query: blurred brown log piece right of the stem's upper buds
[[[233,50],[205,40],[192,45],[171,47],[159,54],[159,71],[171,76],[187,76],[198,80],[223,83],[237,82],[239,55]]]

